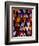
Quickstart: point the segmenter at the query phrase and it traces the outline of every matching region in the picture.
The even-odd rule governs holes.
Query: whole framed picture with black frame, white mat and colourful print
[[[29,24],[31,26],[29,26]],[[9,45],[37,42],[38,4],[28,2],[6,1],[5,44]]]

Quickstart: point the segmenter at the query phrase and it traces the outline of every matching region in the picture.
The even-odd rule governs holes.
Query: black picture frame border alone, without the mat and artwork
[[[9,42],[9,6],[14,4],[24,4],[36,6],[36,39],[31,41],[20,41],[20,42]],[[38,42],[38,3],[29,3],[29,2],[5,2],[5,44],[23,44],[23,43],[37,43]]]

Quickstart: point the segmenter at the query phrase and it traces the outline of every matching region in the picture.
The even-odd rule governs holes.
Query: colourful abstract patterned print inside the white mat
[[[32,9],[12,8],[12,37],[32,36]]]

